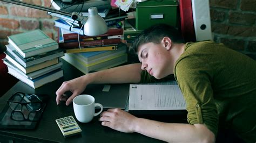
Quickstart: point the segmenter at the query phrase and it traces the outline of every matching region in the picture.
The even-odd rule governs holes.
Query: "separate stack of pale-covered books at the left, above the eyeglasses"
[[[8,42],[3,61],[12,76],[34,89],[63,77],[64,52],[41,30],[10,35]]]

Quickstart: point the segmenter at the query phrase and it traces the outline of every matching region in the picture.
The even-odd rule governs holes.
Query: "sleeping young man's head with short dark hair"
[[[138,35],[129,51],[137,53],[142,69],[160,79],[173,73],[171,55],[175,43],[183,43],[179,31],[166,24],[154,25]]]

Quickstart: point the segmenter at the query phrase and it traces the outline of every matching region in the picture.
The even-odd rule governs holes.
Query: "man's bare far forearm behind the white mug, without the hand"
[[[134,63],[86,74],[84,77],[90,83],[138,83],[142,72],[140,67],[140,63]]]

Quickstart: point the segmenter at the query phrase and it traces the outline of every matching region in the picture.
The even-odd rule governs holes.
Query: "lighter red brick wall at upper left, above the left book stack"
[[[23,0],[36,5],[50,6],[50,0]],[[46,11],[0,2],[0,52],[8,44],[8,35],[40,28],[51,38],[57,38],[54,20]]]

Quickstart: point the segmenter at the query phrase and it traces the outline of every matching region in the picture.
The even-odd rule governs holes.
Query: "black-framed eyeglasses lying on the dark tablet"
[[[13,111],[22,111],[22,107],[24,105],[30,112],[36,112],[41,110],[42,100],[35,94],[29,95],[17,92],[8,99],[7,103]]]

